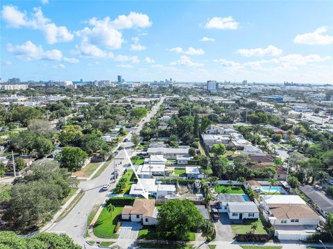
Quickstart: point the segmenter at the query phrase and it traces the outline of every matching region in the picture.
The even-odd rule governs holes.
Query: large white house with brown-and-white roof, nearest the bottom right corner
[[[260,205],[278,239],[304,240],[316,232],[320,218],[300,196],[262,196]]]

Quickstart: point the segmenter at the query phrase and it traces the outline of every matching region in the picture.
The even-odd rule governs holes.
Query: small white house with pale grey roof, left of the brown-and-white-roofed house
[[[219,194],[219,212],[228,213],[230,219],[259,218],[255,203],[242,194]]]

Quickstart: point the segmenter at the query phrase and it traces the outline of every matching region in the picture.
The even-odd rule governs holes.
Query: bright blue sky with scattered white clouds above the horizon
[[[1,1],[2,80],[333,84],[333,1]]]

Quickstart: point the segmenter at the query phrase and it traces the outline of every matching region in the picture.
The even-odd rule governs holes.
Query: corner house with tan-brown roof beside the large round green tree
[[[126,205],[123,207],[121,219],[142,222],[143,225],[157,225],[155,200],[135,199],[133,206]]]

